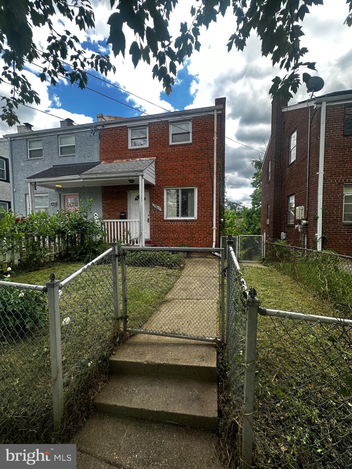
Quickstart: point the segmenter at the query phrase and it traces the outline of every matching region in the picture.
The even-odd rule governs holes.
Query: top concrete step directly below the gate
[[[209,344],[128,340],[109,363],[119,374],[217,380],[216,348]]]

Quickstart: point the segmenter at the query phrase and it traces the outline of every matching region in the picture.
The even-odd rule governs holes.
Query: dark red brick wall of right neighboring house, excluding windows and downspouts
[[[340,99],[341,100],[341,99]],[[272,106],[271,139],[262,171],[262,219],[261,231],[270,239],[280,239],[287,234],[289,244],[316,248],[318,212],[318,172],[321,129],[321,107],[310,106],[310,147],[308,212],[307,164],[308,164],[308,106],[286,107],[281,102]],[[283,110],[282,110],[283,108]],[[296,160],[289,164],[290,136],[297,130]],[[268,182],[268,162],[271,177]],[[323,228],[322,247],[340,254],[352,255],[352,223],[343,222],[344,184],[352,182],[352,136],[344,136],[344,104],[328,102],[326,106],[324,175],[323,175]],[[295,207],[303,205],[308,224],[301,233],[289,225],[288,198],[295,195]],[[267,225],[267,204],[270,204]]]

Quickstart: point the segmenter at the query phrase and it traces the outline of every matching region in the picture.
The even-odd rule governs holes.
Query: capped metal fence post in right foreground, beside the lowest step
[[[257,348],[257,324],[259,301],[255,288],[251,288],[247,300],[247,325],[245,338],[245,386],[242,423],[242,469],[252,467],[253,412],[255,396],[255,356]]]

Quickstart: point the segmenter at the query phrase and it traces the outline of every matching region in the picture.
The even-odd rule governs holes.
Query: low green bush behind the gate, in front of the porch
[[[184,254],[168,251],[127,251],[125,262],[131,267],[167,267],[181,269]]]

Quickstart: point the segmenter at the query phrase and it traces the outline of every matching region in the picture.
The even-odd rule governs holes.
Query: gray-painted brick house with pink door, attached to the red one
[[[93,135],[93,124],[75,126],[67,119],[60,128],[33,131],[29,123],[17,126],[17,134],[8,135],[13,176],[13,207],[17,215],[31,212],[31,186],[26,179],[32,174],[60,166],[99,162],[99,132]],[[35,185],[34,211],[56,213],[65,205],[74,206],[86,197],[93,199],[92,213],[102,215],[101,187],[49,189]]]

